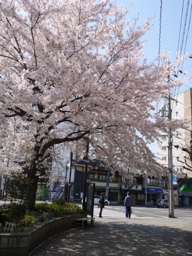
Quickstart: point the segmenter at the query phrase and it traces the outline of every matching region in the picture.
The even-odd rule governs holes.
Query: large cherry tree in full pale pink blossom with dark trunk
[[[1,0],[0,8],[2,170],[25,161],[31,209],[61,143],[81,155],[89,142],[90,157],[107,158],[122,177],[128,167],[161,175],[147,145],[176,125],[153,114],[155,102],[185,81],[167,82],[179,55],[171,64],[166,52],[159,65],[144,59],[151,20],[137,26],[109,0]]]

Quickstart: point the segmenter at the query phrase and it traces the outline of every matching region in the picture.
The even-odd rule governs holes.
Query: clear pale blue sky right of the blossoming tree
[[[132,1],[130,0],[117,0],[117,5],[123,5],[129,7]],[[162,9],[161,9],[162,3]],[[188,4],[188,5],[187,5]],[[128,18],[136,17],[139,13],[138,25],[142,25],[147,18],[155,18],[151,22],[153,25],[151,30],[143,37],[146,40],[145,43],[145,58],[151,62],[157,58],[159,54],[159,31],[160,31],[160,13],[161,13],[161,43],[160,54],[163,50],[171,52],[170,62],[173,62],[177,57],[177,51],[181,53],[192,54],[192,14],[190,21],[192,0],[135,0],[135,3],[130,7],[130,13]],[[188,13],[186,13],[188,7]],[[183,14],[182,14],[183,9]],[[182,19],[181,19],[182,17]],[[180,29],[181,27],[181,29]],[[189,32],[187,34],[189,27]],[[179,36],[179,31],[180,36]],[[192,59],[187,58],[185,61],[185,67],[182,71],[185,73],[187,70],[192,75]],[[192,87],[192,78],[189,82],[177,90],[183,91]],[[150,145],[150,149],[156,153],[157,144]]]

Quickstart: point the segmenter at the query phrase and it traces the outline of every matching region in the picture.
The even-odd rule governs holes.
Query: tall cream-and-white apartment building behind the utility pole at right
[[[167,113],[166,102],[163,109]],[[187,164],[192,166],[189,161],[189,154],[183,149],[192,151],[192,89],[188,89],[172,97],[171,110],[172,119],[186,119],[189,122],[187,129],[181,128],[173,131],[173,172],[175,174],[185,173],[188,178],[191,178],[192,171],[187,170]],[[159,162],[168,167],[168,135],[162,134],[161,139],[162,142],[158,143],[157,154]],[[185,160],[187,164],[182,163]]]

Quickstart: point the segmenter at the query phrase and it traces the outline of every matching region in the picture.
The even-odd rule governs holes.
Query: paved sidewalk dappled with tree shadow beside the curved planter
[[[192,255],[192,219],[95,218],[95,226],[55,235],[30,256]]]

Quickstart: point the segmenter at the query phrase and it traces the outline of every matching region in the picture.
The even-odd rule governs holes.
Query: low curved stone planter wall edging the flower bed
[[[85,218],[86,214],[54,218],[22,233],[0,234],[1,256],[27,256],[46,239],[74,227],[74,219]]]

